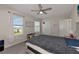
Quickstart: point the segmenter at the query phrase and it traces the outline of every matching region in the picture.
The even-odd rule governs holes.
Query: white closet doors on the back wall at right
[[[60,20],[59,22],[59,33],[60,36],[68,36],[71,30],[71,21],[72,19]]]

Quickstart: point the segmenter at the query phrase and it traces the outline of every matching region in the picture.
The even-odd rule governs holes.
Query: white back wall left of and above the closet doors
[[[42,34],[52,35],[52,36],[62,36],[60,30],[60,21],[67,20],[69,17],[52,17],[42,20]],[[45,22],[45,24],[43,24]],[[64,31],[64,30],[63,30]],[[64,32],[63,32],[64,34]]]

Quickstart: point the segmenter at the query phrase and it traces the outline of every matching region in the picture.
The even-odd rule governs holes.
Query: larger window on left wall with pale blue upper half
[[[23,17],[18,15],[13,15],[13,33],[14,35],[21,35],[23,34]]]

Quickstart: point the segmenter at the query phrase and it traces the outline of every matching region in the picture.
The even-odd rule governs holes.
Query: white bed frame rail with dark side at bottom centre
[[[44,50],[43,48],[40,48],[29,42],[26,42],[26,46],[27,46],[27,49],[29,49],[32,52],[32,54],[51,54],[50,52]]]

